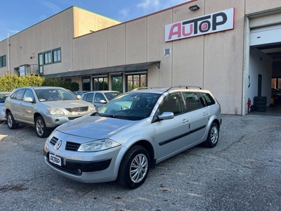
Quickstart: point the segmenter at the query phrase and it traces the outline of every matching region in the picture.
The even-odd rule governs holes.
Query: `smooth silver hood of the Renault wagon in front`
[[[62,124],[56,130],[72,136],[82,136],[90,139],[107,139],[135,122],[112,117],[86,115]]]

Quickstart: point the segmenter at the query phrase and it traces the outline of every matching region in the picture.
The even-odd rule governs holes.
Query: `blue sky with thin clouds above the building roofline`
[[[188,0],[1,0],[0,41],[71,6],[126,22]]]

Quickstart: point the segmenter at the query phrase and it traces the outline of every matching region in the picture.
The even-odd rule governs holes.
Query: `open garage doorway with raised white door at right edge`
[[[250,114],[281,116],[281,25],[256,27],[250,31],[248,96],[266,97],[266,108],[253,105]],[[261,101],[258,101],[259,103]],[[257,108],[256,111],[254,108]]]

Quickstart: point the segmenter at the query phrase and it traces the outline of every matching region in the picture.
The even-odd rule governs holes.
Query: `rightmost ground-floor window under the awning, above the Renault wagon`
[[[147,87],[147,73],[126,75],[126,91]]]

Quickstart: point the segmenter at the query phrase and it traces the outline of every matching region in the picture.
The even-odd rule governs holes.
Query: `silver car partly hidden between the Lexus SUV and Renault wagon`
[[[119,91],[89,91],[82,94],[81,100],[92,103],[93,106],[95,106],[96,110],[98,110],[98,108],[104,106],[105,103],[108,103],[120,94],[121,92]]]

